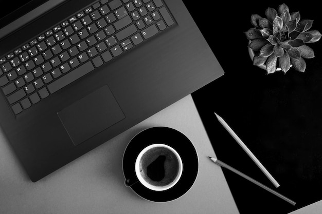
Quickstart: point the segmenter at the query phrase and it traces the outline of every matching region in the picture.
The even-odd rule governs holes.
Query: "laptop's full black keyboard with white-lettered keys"
[[[19,114],[172,26],[163,0],[102,0],[0,57],[0,87]]]

